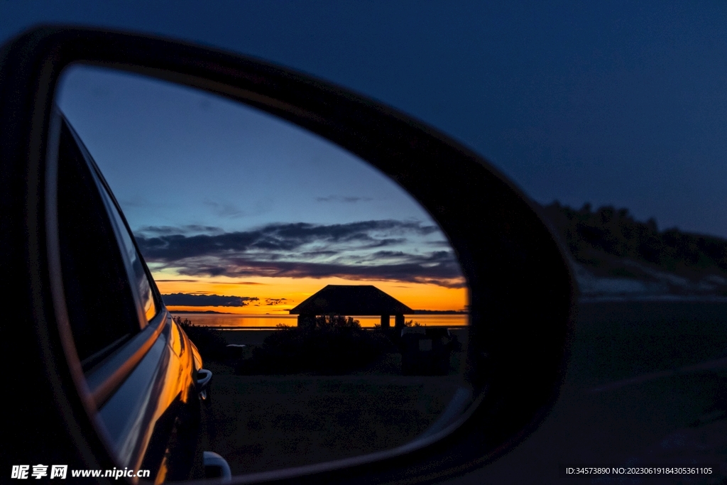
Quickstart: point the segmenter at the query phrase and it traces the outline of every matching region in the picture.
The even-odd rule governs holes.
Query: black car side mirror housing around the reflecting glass
[[[96,404],[68,330],[60,271],[58,166],[51,153],[58,142],[52,126],[54,96],[62,71],[79,63],[212,92],[339,145],[395,181],[429,212],[467,280],[465,378],[472,396],[462,396],[462,401],[472,397],[473,404],[443,428],[393,450],[235,480],[441,480],[507,452],[549,411],[567,358],[573,278],[536,205],[477,154],[346,89],[182,42],[46,27],[13,40],[0,56],[0,245],[5,255],[0,268],[6,276],[7,308],[12,304],[17,315],[2,323],[7,337],[1,345],[7,361],[20,364],[9,376],[9,388],[17,396],[33,396],[17,409],[4,440],[12,443],[3,450],[10,462],[116,466],[99,434]],[[169,323],[168,328],[174,327]],[[401,332],[400,337],[404,334],[419,350],[444,338],[419,338],[416,332]],[[447,338],[452,342],[442,345],[457,344]],[[184,345],[184,337],[180,339],[178,345]],[[204,393],[210,377],[198,374],[199,392]]]

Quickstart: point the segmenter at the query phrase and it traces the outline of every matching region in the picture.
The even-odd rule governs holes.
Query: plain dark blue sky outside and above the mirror
[[[260,57],[441,129],[541,203],[727,236],[727,4],[501,3],[3,0],[0,39],[73,23]]]

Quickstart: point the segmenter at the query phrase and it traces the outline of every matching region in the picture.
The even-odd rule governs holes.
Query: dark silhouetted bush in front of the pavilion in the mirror
[[[342,374],[362,369],[395,348],[376,330],[364,330],[358,320],[321,316],[315,325],[300,328],[278,324],[252,358],[241,361],[238,374]]]

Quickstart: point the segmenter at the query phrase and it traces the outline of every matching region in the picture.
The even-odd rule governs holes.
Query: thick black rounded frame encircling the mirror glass
[[[565,249],[548,231],[547,222],[539,214],[539,209],[480,156],[412,120],[409,116],[355,95],[347,89],[334,87],[324,81],[259,60],[196,47],[180,41],[89,28],[41,27],[24,33],[6,44],[0,53],[0,62],[0,119],[2,120],[0,122],[4,127],[0,135],[3,140],[0,146],[4,158],[7,157],[3,162],[4,165],[7,167],[12,165],[12,170],[4,173],[2,175],[4,180],[0,180],[4,184],[14,176],[16,180],[25,180],[23,189],[30,195],[25,197],[25,203],[30,202],[27,207],[18,207],[18,197],[23,199],[20,193],[13,193],[15,199],[7,206],[15,209],[15,212],[11,210],[9,214],[14,214],[25,222],[23,234],[27,236],[23,251],[24,259],[17,262],[20,266],[26,263],[25,268],[15,268],[15,273],[10,274],[30,275],[29,286],[32,291],[29,300],[26,299],[29,303],[25,310],[27,322],[36,332],[36,340],[41,344],[39,350],[45,359],[44,362],[53,364],[41,365],[43,369],[33,369],[33,372],[36,377],[44,374],[44,379],[56,391],[52,396],[52,402],[55,402],[57,409],[60,409],[65,429],[72,440],[79,445],[79,458],[87,468],[95,461],[99,465],[96,468],[104,468],[105,465],[111,465],[108,466],[111,468],[113,460],[108,456],[99,456],[100,448],[97,448],[99,442],[94,439],[97,436],[88,436],[89,430],[93,429],[89,428],[92,420],[84,416],[85,407],[79,402],[81,401],[79,396],[74,393],[68,396],[64,392],[69,389],[69,382],[73,382],[73,371],[63,365],[63,358],[59,361],[61,354],[58,351],[59,345],[63,346],[63,336],[56,332],[57,325],[54,322],[57,319],[55,314],[58,309],[53,305],[52,295],[48,292],[48,288],[52,286],[50,281],[52,276],[42,269],[48,267],[49,251],[46,246],[46,234],[41,227],[45,220],[41,189],[44,186],[42,167],[46,159],[43,150],[48,141],[55,84],[63,68],[74,62],[105,65],[142,73],[240,100],[310,129],[361,156],[402,185],[404,190],[414,196],[441,225],[453,248],[457,250],[458,259],[467,276],[472,310],[471,321],[475,319],[479,321],[482,318],[480,312],[484,313],[486,308],[491,309],[488,308],[488,304],[491,305],[498,296],[502,297],[504,294],[506,300],[508,297],[507,292],[500,290],[498,293],[497,289],[491,288],[492,285],[487,281],[481,281],[481,277],[485,276],[483,275],[485,270],[506,276],[506,268],[494,265],[492,262],[483,265],[482,262],[478,262],[478,253],[486,252],[488,249],[493,250],[494,255],[500,257],[501,263],[504,264],[513,262],[518,257],[519,250],[522,253],[520,256],[524,258],[521,268],[527,269],[529,262],[538,263],[538,258],[545,258],[547,264],[541,264],[542,267],[537,267],[536,270],[530,268],[531,276],[539,276],[536,278],[537,281],[545,281],[543,276],[548,270],[555,274],[553,278],[555,284],[551,284],[548,288],[550,289],[548,296],[553,298],[553,304],[549,308],[551,311],[542,312],[546,317],[550,317],[546,318],[546,321],[553,324],[553,329],[546,329],[545,333],[538,334],[539,341],[542,342],[542,338],[545,338],[546,342],[553,343],[553,348],[547,356],[547,365],[542,366],[543,369],[547,368],[547,372],[542,372],[541,376],[545,380],[543,382],[534,380],[534,384],[539,385],[534,392],[537,396],[535,406],[525,406],[526,409],[518,409],[515,412],[503,409],[503,406],[507,407],[508,401],[510,404],[513,401],[512,396],[508,400],[503,398],[505,394],[501,393],[501,390],[507,391],[513,387],[512,382],[508,382],[508,372],[505,369],[507,365],[513,365],[513,361],[512,359],[508,361],[507,356],[503,355],[504,351],[488,348],[486,342],[480,342],[481,349],[487,349],[489,353],[487,356],[481,356],[479,352],[475,356],[470,355],[473,357],[473,366],[477,368],[472,377],[475,381],[484,379],[483,372],[477,373],[477,371],[488,368],[491,373],[488,378],[494,376],[494,381],[483,403],[474,409],[467,426],[460,427],[425,449],[419,449],[408,455],[379,460],[365,465],[365,468],[364,465],[358,465],[353,468],[325,470],[315,475],[308,475],[306,479],[319,481],[321,473],[326,474],[326,480],[340,479],[347,483],[352,480],[361,481],[362,477],[366,477],[364,481],[368,483],[371,483],[372,479],[401,481],[405,477],[407,481],[411,481],[411,473],[419,473],[417,481],[449,478],[465,470],[478,468],[512,449],[537,428],[539,422],[542,422],[547,415],[558,396],[565,372],[577,289],[574,286],[571,270],[566,264]],[[15,71],[10,73],[8,71],[10,67],[14,67]],[[8,95],[11,91],[20,95],[11,100]],[[371,124],[373,126],[367,123],[371,121],[375,122]],[[12,126],[13,124],[16,126]],[[15,137],[12,136],[14,133]],[[381,143],[380,140],[385,140],[385,143]],[[451,157],[458,159],[460,165],[467,164],[467,170],[476,175],[476,180],[464,180],[459,173],[455,174],[454,178],[451,174],[438,173],[440,182],[441,177],[447,175],[451,178],[450,183],[458,180],[460,183],[458,191],[462,193],[467,192],[467,187],[461,187],[463,180],[470,184],[471,191],[481,191],[482,187],[479,184],[485,180],[485,185],[493,193],[479,194],[478,199],[483,201],[478,205],[486,207],[491,214],[481,215],[479,222],[491,230],[499,229],[500,231],[493,233],[502,240],[489,246],[484,244],[473,247],[473,239],[465,236],[467,224],[471,224],[472,221],[463,220],[461,216],[454,214],[454,209],[457,207],[462,209],[467,206],[451,204],[446,199],[446,196],[452,195],[451,193],[439,198],[427,195],[427,190],[431,188],[427,182],[431,177],[427,177],[427,174],[431,175],[432,170],[422,171],[421,167],[414,170],[415,161],[412,160],[412,153],[418,154],[420,158],[429,156],[434,167],[443,168],[443,164],[446,164]],[[32,194],[36,196],[33,197]],[[33,204],[35,200],[37,204]],[[518,227],[512,227],[513,221]],[[531,233],[527,227],[529,225],[534,229],[530,231]],[[526,241],[526,236],[534,236],[534,239]],[[17,252],[18,241],[12,244],[8,239],[7,242],[10,243],[9,247],[12,246]],[[467,244],[468,242],[470,244]],[[535,246],[538,243],[545,246],[545,249],[537,249]],[[508,244],[510,246],[514,244],[514,247],[505,247]],[[542,263],[542,260],[540,262]],[[518,276],[523,278],[523,275]],[[23,281],[23,278],[19,278],[18,281]],[[514,289],[522,288],[523,284],[507,280],[505,286],[507,289]],[[529,288],[533,289],[533,285]],[[17,290],[16,288],[15,291]],[[512,299],[513,295],[510,294],[509,297]],[[512,309],[510,310],[512,313]],[[508,317],[512,317],[507,312],[495,313],[495,321],[510,321]],[[520,317],[523,318],[522,315]],[[470,330],[474,330],[475,336],[481,340],[497,341],[498,337],[507,336],[507,332],[503,329],[489,328],[485,331],[471,325]],[[550,337],[550,340],[547,337]],[[27,335],[25,340],[31,342]],[[531,337],[531,340],[538,339]],[[471,347],[474,352],[476,345]],[[522,375],[523,372],[521,369],[518,374],[516,369],[513,373],[510,369],[509,374],[512,378]],[[524,412],[524,417],[519,412]],[[519,419],[515,415],[518,415]],[[85,421],[84,417],[87,418]],[[505,417],[507,425],[493,425],[497,417]],[[490,433],[489,438],[475,436],[478,432],[481,435]],[[465,452],[465,448],[470,449],[470,452]],[[472,449],[476,449],[477,452],[472,453]],[[459,459],[451,460],[453,454],[458,454]],[[450,460],[446,459],[447,456]],[[465,457],[465,460],[462,460],[462,457]],[[438,465],[427,466],[427,462],[431,464],[432,460]],[[236,481],[243,482],[244,477],[246,476],[240,476],[241,480]],[[269,478],[276,480],[273,476]],[[279,479],[286,478],[278,476]]]

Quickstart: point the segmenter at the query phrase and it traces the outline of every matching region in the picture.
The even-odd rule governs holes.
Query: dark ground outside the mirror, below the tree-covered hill
[[[712,477],[558,476],[559,463],[720,466]],[[549,417],[464,484],[727,483],[727,304],[581,305]]]

